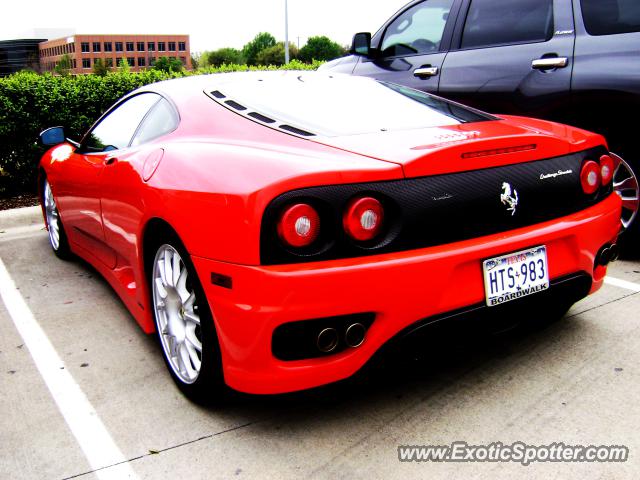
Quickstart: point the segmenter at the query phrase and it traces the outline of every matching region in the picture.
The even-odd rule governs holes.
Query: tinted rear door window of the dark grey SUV
[[[552,36],[553,0],[471,0],[461,47],[544,42]]]

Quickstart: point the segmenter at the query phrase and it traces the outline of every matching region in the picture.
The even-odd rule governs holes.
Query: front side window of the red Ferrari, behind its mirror
[[[82,150],[108,152],[127,147],[144,116],[160,98],[155,93],[131,97],[89,132],[82,142]]]

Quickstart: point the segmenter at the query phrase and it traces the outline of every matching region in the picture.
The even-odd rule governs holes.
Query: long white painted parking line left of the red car
[[[0,259],[0,296],[71,433],[98,478],[137,479],[95,409],[53,348]],[[114,465],[113,467],[110,467]],[[110,467],[110,468],[105,468]]]

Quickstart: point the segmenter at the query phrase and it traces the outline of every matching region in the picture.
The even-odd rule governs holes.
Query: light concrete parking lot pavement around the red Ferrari
[[[427,332],[347,381],[203,407],[175,388],[108,284],[53,255],[37,209],[2,212],[0,259],[33,322],[0,304],[0,478],[638,478],[640,246],[628,250],[614,280],[560,321]],[[625,445],[630,456],[398,461],[399,445],[455,441]]]

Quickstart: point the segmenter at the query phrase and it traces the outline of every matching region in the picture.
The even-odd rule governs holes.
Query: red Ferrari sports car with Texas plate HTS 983
[[[470,312],[557,312],[616,256],[595,134],[369,78],[193,76],[42,158],[53,251],[109,281],[192,398],[346,378]]]

